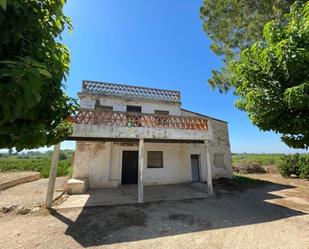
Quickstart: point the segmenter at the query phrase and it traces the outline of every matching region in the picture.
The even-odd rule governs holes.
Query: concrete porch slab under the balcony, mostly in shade
[[[144,202],[184,200],[208,197],[204,183],[170,184],[144,187]],[[205,189],[205,191],[204,191]],[[118,188],[90,189],[85,194],[68,196],[56,209],[134,204],[137,202],[137,185]]]

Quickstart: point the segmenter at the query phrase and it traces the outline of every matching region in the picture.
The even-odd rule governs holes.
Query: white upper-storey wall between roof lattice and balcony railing
[[[101,105],[113,106],[114,111],[125,112],[127,105],[142,106],[143,113],[154,113],[154,110],[169,111],[170,115],[181,115],[179,102],[168,102],[162,100],[126,98],[115,96],[81,95],[80,106],[85,109],[94,109],[96,99]]]

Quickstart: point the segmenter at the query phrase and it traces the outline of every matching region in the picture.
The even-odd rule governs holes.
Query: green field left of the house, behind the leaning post
[[[61,152],[57,176],[72,175],[72,152]],[[6,171],[37,171],[42,177],[49,176],[51,153],[38,153],[31,155],[1,155],[0,172]]]

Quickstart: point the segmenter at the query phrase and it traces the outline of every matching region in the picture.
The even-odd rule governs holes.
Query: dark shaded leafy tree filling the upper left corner
[[[0,148],[53,145],[71,132],[75,100],[64,93],[72,29],[65,0],[0,0]]]

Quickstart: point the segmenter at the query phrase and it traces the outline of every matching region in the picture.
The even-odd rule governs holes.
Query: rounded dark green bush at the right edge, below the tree
[[[298,178],[309,179],[309,155],[286,155],[278,163],[278,170],[282,176],[295,175]]]

